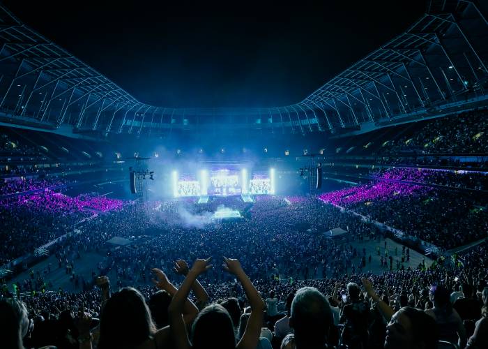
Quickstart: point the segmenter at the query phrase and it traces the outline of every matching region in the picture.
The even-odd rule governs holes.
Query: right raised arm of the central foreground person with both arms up
[[[241,263],[238,260],[229,259],[224,257],[224,265],[222,265],[227,272],[234,274],[236,279],[243,286],[245,295],[249,300],[251,306],[251,315],[247,320],[244,334],[241,341],[237,343],[238,349],[254,349],[259,342],[259,334],[261,334],[261,327],[263,325],[264,317],[264,302],[259,293],[257,292],[252,282],[245,274]]]

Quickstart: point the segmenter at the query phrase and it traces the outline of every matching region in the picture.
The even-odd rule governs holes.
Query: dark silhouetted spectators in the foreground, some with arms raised
[[[153,268],[151,289],[111,293],[100,276],[98,290],[3,298],[2,348],[487,348],[486,252],[485,245],[466,256],[471,272],[461,274],[445,261],[425,271],[285,285],[252,282],[236,259],[197,259],[191,268],[176,260],[174,272],[185,276],[179,287]],[[217,268],[236,279],[227,297],[215,298],[222,285],[199,283]],[[286,311],[278,315],[269,304],[283,287]]]

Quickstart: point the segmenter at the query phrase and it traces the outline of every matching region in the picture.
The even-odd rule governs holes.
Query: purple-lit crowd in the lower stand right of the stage
[[[397,168],[376,172],[373,177],[376,180],[368,184],[323,193],[319,198],[442,248],[487,237],[484,196],[399,182],[434,182],[480,190],[485,188],[484,174]]]

